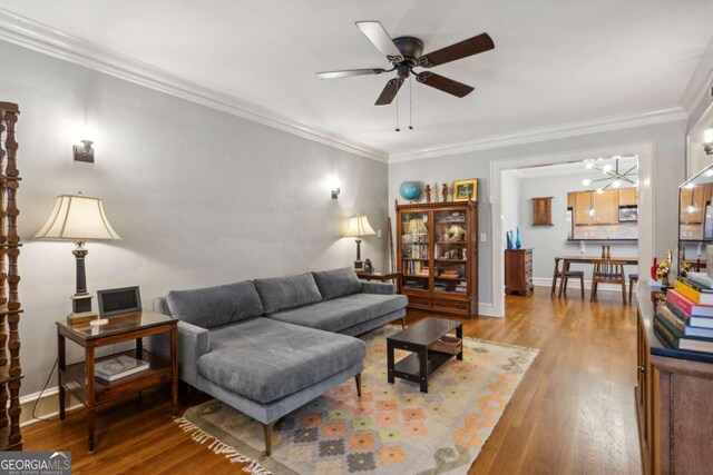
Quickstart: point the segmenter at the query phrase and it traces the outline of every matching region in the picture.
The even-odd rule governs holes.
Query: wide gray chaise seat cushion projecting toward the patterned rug
[[[367,349],[351,336],[261,317],[211,330],[211,345],[198,374],[263,404],[350,368]]]

